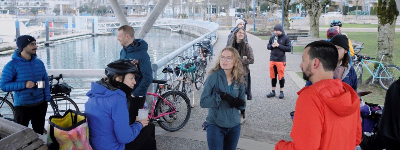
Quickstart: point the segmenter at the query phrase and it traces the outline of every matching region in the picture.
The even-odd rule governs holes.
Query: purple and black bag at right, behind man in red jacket
[[[376,112],[379,110],[382,111],[383,107],[378,104],[367,102],[365,102],[365,105],[360,107],[362,132],[376,132],[380,118],[380,114],[377,114]]]

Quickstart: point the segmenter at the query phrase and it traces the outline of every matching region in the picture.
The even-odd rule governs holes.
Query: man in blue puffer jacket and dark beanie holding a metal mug
[[[49,78],[42,60],[36,56],[36,39],[29,35],[17,38],[18,50],[12,55],[2,71],[0,88],[4,92],[14,91],[14,122],[28,126],[43,134],[47,102],[50,101]],[[44,81],[44,88],[37,82]]]

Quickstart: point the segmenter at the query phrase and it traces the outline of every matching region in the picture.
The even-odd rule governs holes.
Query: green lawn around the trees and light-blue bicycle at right
[[[347,26],[348,28],[357,28]],[[376,26],[377,27],[377,26]],[[365,28],[373,28],[373,27],[365,27]],[[364,49],[361,50],[359,54],[368,55],[372,57],[376,57],[376,48],[377,48],[377,40],[376,37],[378,35],[377,32],[346,32],[351,40],[356,40],[360,42],[364,42]],[[324,37],[326,35],[326,31],[320,31],[320,37]],[[261,39],[269,40],[270,36],[258,36]],[[395,33],[394,39],[400,39],[400,33]],[[400,66],[400,40],[394,40],[394,50],[393,50],[393,64]],[[293,52],[303,52],[304,47],[296,46],[293,47]],[[380,60],[380,58],[377,58]],[[372,70],[372,66],[370,65],[370,69]],[[297,72],[297,74],[302,78],[302,73]],[[370,77],[370,73],[368,70],[364,68],[363,70],[363,82],[365,82]],[[386,90],[384,90],[380,85],[379,82],[374,82],[373,85],[366,84],[358,84],[357,91],[372,91],[372,94],[368,94],[363,97],[365,102],[374,103],[374,104],[384,104],[384,99],[386,95]]]

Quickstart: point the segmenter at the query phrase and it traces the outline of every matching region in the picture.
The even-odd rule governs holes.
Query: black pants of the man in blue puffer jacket
[[[46,119],[47,102],[42,101],[36,106],[15,106],[14,122],[28,127],[29,121],[33,130],[43,135],[44,120]]]

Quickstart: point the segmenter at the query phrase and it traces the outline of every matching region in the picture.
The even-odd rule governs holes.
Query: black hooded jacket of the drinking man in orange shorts
[[[289,36],[285,35],[285,31],[282,31],[282,34],[278,35],[278,47],[272,47],[272,43],[274,43],[275,34],[272,34],[270,37],[270,41],[268,42],[267,49],[271,50],[270,61],[273,62],[286,62],[285,52],[292,51],[292,43],[290,43]]]

